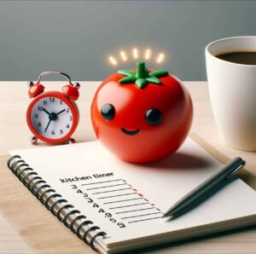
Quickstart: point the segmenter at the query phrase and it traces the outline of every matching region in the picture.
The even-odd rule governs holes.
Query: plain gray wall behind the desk
[[[207,43],[241,35],[256,35],[255,1],[1,1],[0,80],[101,80],[124,67],[107,56],[134,45],[164,50],[159,68],[183,80],[206,80]]]

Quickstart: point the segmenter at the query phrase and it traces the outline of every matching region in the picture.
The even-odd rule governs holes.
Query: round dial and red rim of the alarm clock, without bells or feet
[[[61,93],[45,94],[35,98],[28,108],[29,127],[43,141],[66,141],[78,124],[78,112]]]

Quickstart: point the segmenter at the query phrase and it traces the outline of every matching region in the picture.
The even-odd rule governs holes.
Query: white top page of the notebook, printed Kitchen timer
[[[189,138],[176,154],[149,165],[116,159],[98,141],[10,153],[19,154],[57,193],[107,232],[107,244],[256,211],[255,192],[236,180],[176,220],[160,219],[177,199],[221,168]]]

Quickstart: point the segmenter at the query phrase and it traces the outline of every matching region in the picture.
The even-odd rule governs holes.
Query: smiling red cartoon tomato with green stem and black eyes
[[[91,121],[96,137],[119,159],[145,163],[175,153],[189,134],[192,101],[166,71],[122,70],[96,90]]]

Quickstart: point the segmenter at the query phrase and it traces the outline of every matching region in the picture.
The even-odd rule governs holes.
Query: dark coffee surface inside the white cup
[[[256,51],[228,52],[216,55],[221,60],[231,61],[243,65],[256,65]]]

